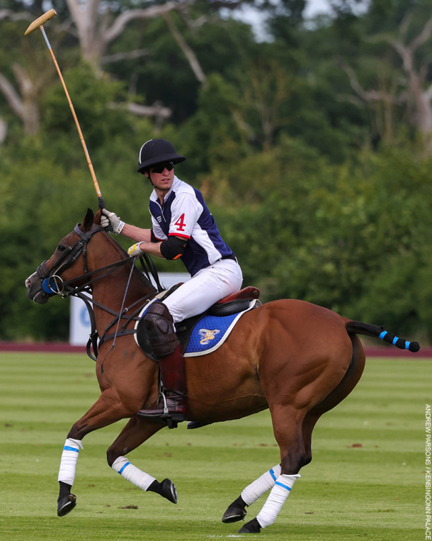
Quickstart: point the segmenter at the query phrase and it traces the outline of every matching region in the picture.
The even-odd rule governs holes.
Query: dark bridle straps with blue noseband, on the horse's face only
[[[91,239],[91,236],[98,231],[103,231],[100,225],[93,223],[88,233],[84,233],[79,228],[80,223],[77,223],[74,228],[74,232],[79,235],[80,240],[77,240],[74,245],[68,246],[67,249],[60,255],[59,259],[52,265],[50,269],[47,268],[47,262],[42,262],[36,269],[40,281],[42,281],[42,289],[47,295],[59,295],[64,292],[64,281],[60,277],[60,274],[76,262],[78,257],[83,255],[84,259],[84,274],[87,274],[87,242]]]

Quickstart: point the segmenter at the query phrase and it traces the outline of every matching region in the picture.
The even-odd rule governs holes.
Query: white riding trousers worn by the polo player
[[[234,260],[219,260],[198,271],[164,301],[174,323],[197,316],[241,289],[243,274]]]

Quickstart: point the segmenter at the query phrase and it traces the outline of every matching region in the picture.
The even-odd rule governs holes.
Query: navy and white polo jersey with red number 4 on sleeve
[[[191,276],[222,258],[234,259],[201,192],[178,177],[174,177],[162,207],[156,192],[152,191],[149,211],[158,241],[166,240],[169,235],[188,240],[181,260]]]

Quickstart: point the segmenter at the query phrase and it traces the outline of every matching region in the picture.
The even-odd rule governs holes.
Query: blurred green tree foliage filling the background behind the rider
[[[142,7],[135,0],[108,4],[113,16]],[[203,26],[171,13],[205,84],[163,18],[128,24],[108,53],[142,55],[110,60],[98,74],[79,61],[74,35],[50,38],[110,210],[149,227],[151,187],[136,172],[137,154],[154,136],[169,139],[188,158],[178,176],[203,191],[244,284],[259,286],[264,300],[306,299],[432,340],[427,140],[408,123],[410,108],[396,99],[360,99],[347,74],[351,67],[365,91],[398,97],[405,79],[389,39],[400,35],[409,10],[406,43],[413,40],[428,1],[373,0],[364,13],[357,4],[336,1],[333,18],[306,23],[303,0],[262,2],[272,35],[264,43],[205,1],[190,8],[193,18],[206,18]],[[42,9],[40,1],[5,4],[15,11],[24,5],[33,17]],[[65,21],[64,1],[54,6]],[[23,281],[87,207],[96,210],[96,194],[50,55],[40,35],[23,38],[27,23],[4,19],[0,36],[1,74],[20,94],[24,70],[40,116],[40,132],[25,137],[22,118],[0,93],[8,124],[0,148],[0,339],[66,340],[69,303],[34,306]],[[418,65],[428,61],[431,44],[419,48]],[[173,116],[159,126],[131,116],[127,101],[160,101]]]

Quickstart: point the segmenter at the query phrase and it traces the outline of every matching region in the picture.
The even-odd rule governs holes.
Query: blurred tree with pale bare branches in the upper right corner
[[[375,1],[364,22],[382,18],[382,2]],[[396,6],[399,9],[400,5]],[[389,142],[394,138],[397,127],[397,109],[406,111],[409,124],[417,133],[424,137],[425,149],[432,151],[432,84],[428,72],[431,69],[430,51],[432,35],[432,17],[423,18],[424,5],[421,2],[405,11],[403,18],[398,21],[393,18],[393,28],[386,32],[372,33],[365,38],[366,43],[380,44],[380,62],[375,65],[375,88],[366,89],[366,84],[360,81],[358,71],[341,62],[351,83],[351,88],[363,104],[382,104],[375,107],[376,126],[383,140]],[[407,9],[407,6],[405,6]],[[388,9],[384,13],[389,15]],[[365,30],[367,30],[365,28]],[[390,45],[397,56],[382,48],[381,44]],[[386,77],[387,76],[387,77]],[[399,114],[399,123],[404,118],[404,111]],[[380,128],[382,126],[382,128]]]

